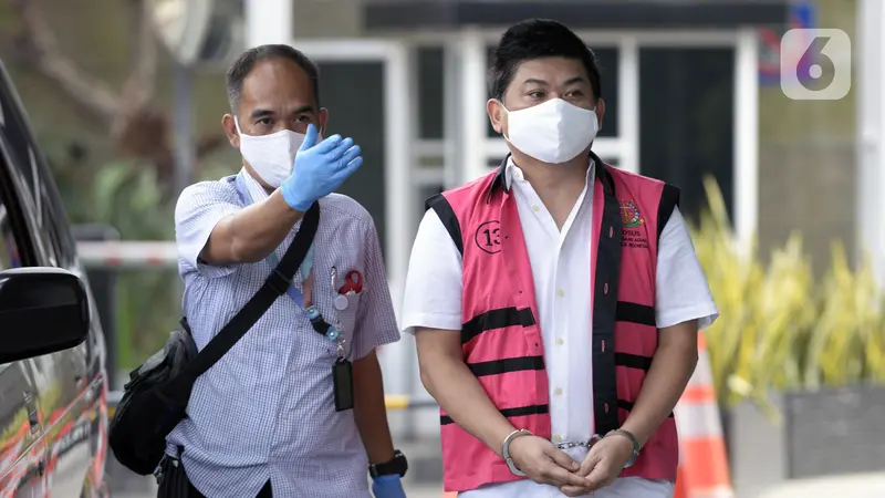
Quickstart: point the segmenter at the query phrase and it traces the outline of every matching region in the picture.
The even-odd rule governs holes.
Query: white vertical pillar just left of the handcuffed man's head
[[[488,154],[486,151],[486,42],[482,35],[468,29],[460,33],[460,126],[458,126],[458,160],[461,163],[462,177],[459,183],[479,178],[488,173]]]

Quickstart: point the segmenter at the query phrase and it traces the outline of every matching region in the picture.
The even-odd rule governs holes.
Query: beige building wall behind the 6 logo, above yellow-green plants
[[[818,0],[821,28],[854,40],[855,0]],[[780,86],[760,89],[759,242],[764,257],[800,231],[818,271],[834,240],[856,248],[856,92],[841,101],[791,101]]]

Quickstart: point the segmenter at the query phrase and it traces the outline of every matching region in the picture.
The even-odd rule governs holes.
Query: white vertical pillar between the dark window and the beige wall
[[[735,231],[749,255],[759,228],[759,60],[757,32],[738,31],[735,48]]]

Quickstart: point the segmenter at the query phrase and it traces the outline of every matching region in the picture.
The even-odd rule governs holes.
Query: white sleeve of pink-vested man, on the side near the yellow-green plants
[[[655,315],[657,328],[673,326],[689,320],[698,329],[712,324],[719,310],[691,243],[691,235],[679,208],[674,208],[657,250]]]

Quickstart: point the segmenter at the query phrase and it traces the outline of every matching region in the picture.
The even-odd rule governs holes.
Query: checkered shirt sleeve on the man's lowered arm
[[[372,218],[368,218],[363,240],[365,288],[356,311],[352,352],[355,360],[365,357],[377,346],[399,341],[378,231]]]

